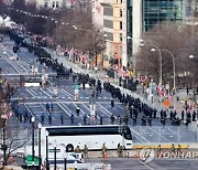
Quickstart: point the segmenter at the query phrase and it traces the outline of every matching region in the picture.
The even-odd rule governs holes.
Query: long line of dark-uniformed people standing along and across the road
[[[18,40],[19,38],[18,38],[16,33],[12,32],[11,38],[14,39],[18,44],[21,43]],[[82,74],[82,73],[76,74],[73,72],[73,68],[69,68],[69,70],[65,68],[63,66],[63,64],[59,64],[57,62],[57,59],[54,60],[51,56],[51,54],[46,52],[46,50],[43,47],[45,45],[41,44],[40,40],[37,41],[36,39],[35,39],[35,41],[36,42],[32,43],[31,46],[29,45],[28,49],[35,54],[37,62],[40,62],[41,64],[45,63],[46,68],[52,67],[54,71],[56,71],[56,73],[57,73],[56,78],[68,78],[70,76],[73,78],[73,82],[81,84],[84,89],[85,89],[85,85],[89,84],[90,88],[94,87],[96,89],[96,92],[92,93],[94,97],[96,97],[96,98],[98,97],[99,93],[101,93],[101,89],[102,89],[102,85],[101,85],[100,81],[89,77],[88,74]],[[37,45],[35,45],[35,44],[37,44]],[[183,113],[180,113],[182,114],[182,118],[180,118],[180,116],[178,116],[178,113],[176,110],[169,113],[169,111],[163,110],[163,109],[160,111],[160,116],[157,116],[156,108],[153,108],[153,107],[144,104],[143,102],[140,100],[140,98],[134,98],[133,96],[131,96],[129,94],[122,94],[121,89],[118,87],[114,87],[112,84],[105,82],[103,88],[106,89],[106,92],[110,93],[112,96],[112,100],[110,103],[111,107],[114,107],[114,99],[118,99],[125,107],[124,113],[117,116],[118,124],[124,123],[125,125],[128,125],[128,121],[131,118],[133,120],[133,126],[136,126],[138,118],[140,117],[142,126],[146,126],[146,125],[152,126],[153,119],[156,119],[157,117],[160,117],[161,124],[163,126],[165,126],[168,120],[167,117],[169,116],[169,120],[170,120],[172,125],[179,126],[180,123],[184,120],[186,121],[186,125],[188,125],[191,121],[196,121],[196,119],[198,117],[198,113],[196,113],[196,111],[190,114],[189,111],[184,110]],[[16,115],[19,115],[19,117],[21,117],[20,113],[18,113]],[[79,115],[79,113],[77,113],[77,116],[78,115]],[[61,121],[63,123],[62,118],[61,118]],[[75,118],[75,116],[73,114],[70,117],[72,124],[74,124],[74,118]],[[44,119],[44,117],[41,117],[41,120],[43,120],[43,119]],[[48,118],[48,119],[50,119],[50,124],[51,124],[52,118]],[[113,115],[113,113],[110,117],[110,121],[111,121],[111,124],[114,124],[114,121],[116,121],[116,116]],[[87,117],[84,117],[84,123],[87,124]],[[100,124],[103,124],[102,116],[100,116]]]

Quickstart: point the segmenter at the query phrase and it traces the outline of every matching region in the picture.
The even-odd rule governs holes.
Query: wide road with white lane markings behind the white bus
[[[11,42],[8,38],[3,40],[4,46],[9,50],[12,50],[13,42]],[[42,72],[44,65],[40,63],[35,63],[35,56],[32,53],[29,53],[26,49],[21,49],[19,56],[19,61],[11,61],[8,59],[6,54],[1,53],[1,62],[0,66],[2,67],[3,77],[8,77],[10,79],[14,78],[14,76],[6,76],[4,74],[23,74],[30,73],[32,74],[31,66],[36,64],[38,67],[38,72]],[[8,52],[10,53],[10,52]],[[52,70],[48,73],[53,73]],[[58,84],[57,88],[57,97],[53,97],[54,95],[54,84]],[[125,108],[119,100],[114,99],[116,106],[111,108],[111,95],[106,93],[102,89],[102,93],[99,94],[97,99],[97,123],[92,123],[92,120],[88,120],[90,118],[90,105],[89,97],[94,89],[86,88],[80,89],[79,92],[79,100],[74,100],[74,83],[72,78],[69,79],[50,79],[50,86],[46,89],[41,87],[20,87],[18,92],[14,94],[12,99],[19,98],[19,110],[24,113],[28,111],[31,116],[35,117],[35,127],[41,121],[41,114],[45,114],[45,121],[43,126],[53,126],[53,125],[62,125],[61,124],[61,114],[64,114],[64,124],[63,125],[72,125],[70,124],[70,115],[74,113],[75,120],[74,125],[82,125],[84,124],[84,115],[87,115],[87,124],[99,124],[99,118],[103,117],[103,124],[110,124],[110,116],[113,114],[116,118],[125,115]],[[46,111],[46,103],[53,103],[53,120],[52,124],[48,124],[48,115]],[[76,116],[76,107],[80,107],[80,115]],[[132,119],[129,119],[129,126],[131,128],[132,135],[135,137],[134,142],[191,142],[197,141],[197,135],[190,131],[187,127],[182,125],[179,128],[172,126],[170,120],[167,120],[167,125],[165,127],[161,126],[160,119],[153,119],[153,126],[141,126],[141,116],[140,114],[138,118],[138,126],[132,126]],[[14,124],[20,124],[24,129],[30,130],[32,125],[26,121],[20,123],[16,120],[15,116],[12,116],[10,119],[10,126],[15,126]],[[114,124],[118,124],[117,120]]]

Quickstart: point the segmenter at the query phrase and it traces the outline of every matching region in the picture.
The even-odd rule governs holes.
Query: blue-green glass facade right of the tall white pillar
[[[143,32],[162,21],[183,21],[185,0],[143,0]]]

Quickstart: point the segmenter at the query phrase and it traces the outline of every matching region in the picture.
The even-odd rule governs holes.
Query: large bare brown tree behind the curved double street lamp
[[[187,57],[184,56],[188,53],[188,43],[190,40],[190,30],[178,23],[165,22],[157,24],[151,31],[143,36],[145,43],[144,47],[141,49],[136,67],[142,74],[151,75],[158,81],[160,71],[160,52],[162,50],[162,70],[163,81],[167,82],[173,78],[173,60],[168,50],[173,53],[176,63],[176,73],[184,72],[186,67]],[[156,52],[151,52],[151,49],[155,49]],[[158,47],[158,49],[157,49]],[[145,70],[146,68],[146,70]]]

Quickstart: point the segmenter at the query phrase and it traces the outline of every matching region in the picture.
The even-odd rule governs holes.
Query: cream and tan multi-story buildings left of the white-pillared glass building
[[[92,17],[98,26],[103,30],[106,39],[106,52],[103,65],[110,67],[121,64],[122,56],[122,1],[121,0],[96,0],[92,3]]]

